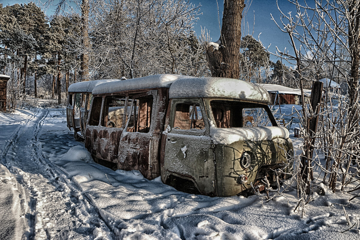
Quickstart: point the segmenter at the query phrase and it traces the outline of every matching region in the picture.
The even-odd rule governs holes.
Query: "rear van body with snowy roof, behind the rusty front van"
[[[93,88],[104,82],[118,81],[117,79],[102,79],[94,81],[76,82],[68,87],[66,105],[66,121],[69,130],[73,128],[76,140],[85,139],[87,113],[91,104]]]

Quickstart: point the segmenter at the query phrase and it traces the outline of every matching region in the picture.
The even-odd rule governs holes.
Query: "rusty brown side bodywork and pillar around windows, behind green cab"
[[[150,90],[141,90],[141,92]],[[139,90],[126,91],[121,94],[138,92]],[[160,175],[160,140],[167,101],[168,89],[157,89],[157,94],[153,99],[152,121],[148,133],[126,132],[123,134],[122,128],[86,126],[86,148],[95,159],[116,163],[118,169],[139,170],[148,179],[158,177]],[[128,129],[128,131],[132,130],[134,128]]]

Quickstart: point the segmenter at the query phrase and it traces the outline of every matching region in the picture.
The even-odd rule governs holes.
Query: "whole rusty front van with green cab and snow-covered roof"
[[[92,94],[85,146],[105,166],[209,196],[290,176],[289,132],[254,83],[159,74],[103,83]]]

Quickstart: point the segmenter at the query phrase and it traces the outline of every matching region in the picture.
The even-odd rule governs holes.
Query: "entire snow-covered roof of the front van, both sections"
[[[93,94],[126,90],[168,87],[170,98],[237,98],[269,102],[269,93],[261,86],[233,78],[190,77],[176,74],[157,74],[123,81],[106,82],[96,86]]]

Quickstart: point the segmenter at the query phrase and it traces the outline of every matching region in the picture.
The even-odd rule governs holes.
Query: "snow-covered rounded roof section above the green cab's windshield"
[[[269,93],[255,83],[222,77],[184,77],[169,89],[170,98],[238,98],[270,101]]]

